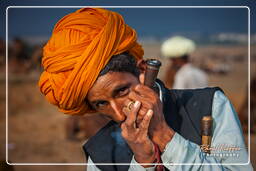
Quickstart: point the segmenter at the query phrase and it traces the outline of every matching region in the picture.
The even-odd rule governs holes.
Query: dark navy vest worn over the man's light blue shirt
[[[211,115],[213,95],[220,88],[168,90],[158,81],[163,93],[164,115],[167,124],[185,139],[201,144],[200,123]],[[83,146],[86,156],[97,163],[130,163],[133,152],[121,136],[114,121],[91,137]],[[129,165],[97,165],[102,171],[127,171]]]

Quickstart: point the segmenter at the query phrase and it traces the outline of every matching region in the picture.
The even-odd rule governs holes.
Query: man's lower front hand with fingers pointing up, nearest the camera
[[[126,120],[121,124],[122,136],[133,151],[138,163],[153,163],[155,160],[154,145],[148,137],[148,127],[153,111],[148,110],[140,124],[136,126],[137,113],[140,107],[141,103],[136,101],[130,109],[123,109]],[[149,167],[149,165],[144,167]]]

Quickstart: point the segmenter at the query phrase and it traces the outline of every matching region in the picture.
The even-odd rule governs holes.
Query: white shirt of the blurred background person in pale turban
[[[207,75],[192,64],[185,64],[175,75],[173,89],[194,89],[207,86]]]

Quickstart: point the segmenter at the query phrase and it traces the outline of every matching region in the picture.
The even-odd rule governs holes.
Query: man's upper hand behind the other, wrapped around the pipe
[[[151,88],[139,84],[129,93],[130,100],[141,102],[136,123],[139,125],[148,110],[153,110],[153,117],[149,125],[149,136],[163,151],[166,144],[172,139],[174,131],[167,125],[163,115],[163,105]]]

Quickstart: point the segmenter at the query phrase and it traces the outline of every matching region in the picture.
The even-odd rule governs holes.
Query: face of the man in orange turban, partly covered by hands
[[[125,120],[123,108],[128,94],[139,84],[139,79],[128,72],[108,72],[98,77],[89,90],[87,99],[90,105],[116,122]]]

